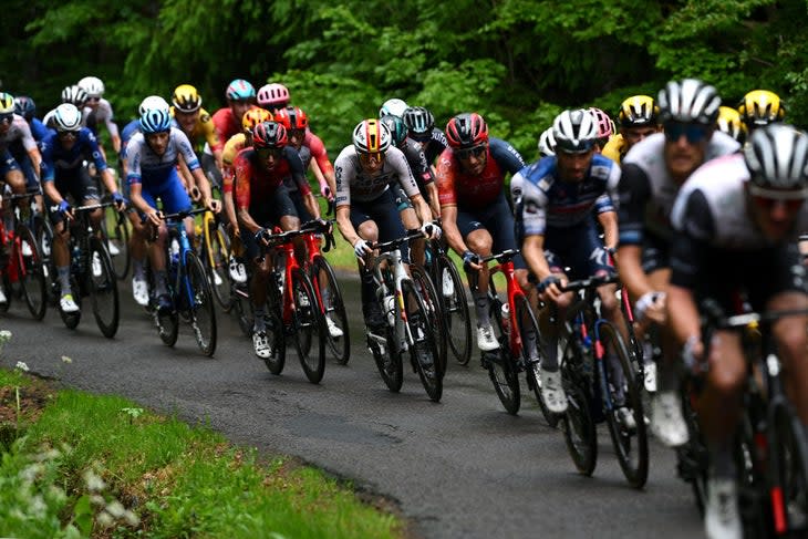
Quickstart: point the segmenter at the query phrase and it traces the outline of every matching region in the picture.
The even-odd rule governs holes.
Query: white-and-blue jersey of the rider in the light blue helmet
[[[162,156],[155,154],[148,146],[143,133],[133,135],[126,145],[126,160],[128,162],[126,182],[144,184],[144,189],[152,189],[173,182],[173,178],[176,177],[176,166],[180,154],[189,170],[199,168],[199,160],[196,158],[194,148],[190,147],[190,141],[178,128],[170,128],[168,145]]]

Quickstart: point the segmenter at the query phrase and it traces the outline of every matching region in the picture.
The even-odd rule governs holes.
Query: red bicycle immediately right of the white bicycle
[[[488,299],[489,315],[494,321],[499,348],[483,353],[483,366],[488,371],[488,377],[499,401],[511,415],[519,412],[521,404],[519,373],[525,372],[528,388],[534,392],[547,422],[553,425],[553,421],[557,422],[556,416],[547,410],[541,400],[539,325],[527,296],[516,280],[514,257],[518,253],[516,249],[508,249],[480,259],[480,263],[498,262],[489,269]],[[497,273],[505,277],[507,286],[505,302],[499,299],[494,283]],[[524,339],[534,340],[532,357]]]

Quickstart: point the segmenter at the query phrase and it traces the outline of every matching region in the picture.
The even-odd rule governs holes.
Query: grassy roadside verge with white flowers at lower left
[[[262,460],[204,426],[19,370],[0,370],[0,427],[2,537],[406,535],[314,468]]]

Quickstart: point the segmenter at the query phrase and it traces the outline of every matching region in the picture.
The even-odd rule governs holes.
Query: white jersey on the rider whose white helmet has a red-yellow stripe
[[[408,197],[412,198],[419,194],[406,157],[396,147],[387,148],[382,167],[377,172],[369,174],[360,165],[356,148],[345,146],[334,162],[334,172],[336,178],[334,201],[338,208],[350,206],[352,198],[361,203],[379,198],[396,179]]]

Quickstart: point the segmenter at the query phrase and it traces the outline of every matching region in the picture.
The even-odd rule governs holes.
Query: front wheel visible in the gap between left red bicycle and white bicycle
[[[342,290],[340,290],[340,283],[336,281],[334,270],[322,256],[314,257],[314,263],[311,267],[311,282],[318,291],[320,304],[328,318],[325,320],[328,349],[336,363],[345,365],[348,360],[351,359],[351,334],[348,326],[345,303],[342,300]],[[334,336],[331,334],[329,320],[342,332],[342,335]]]

